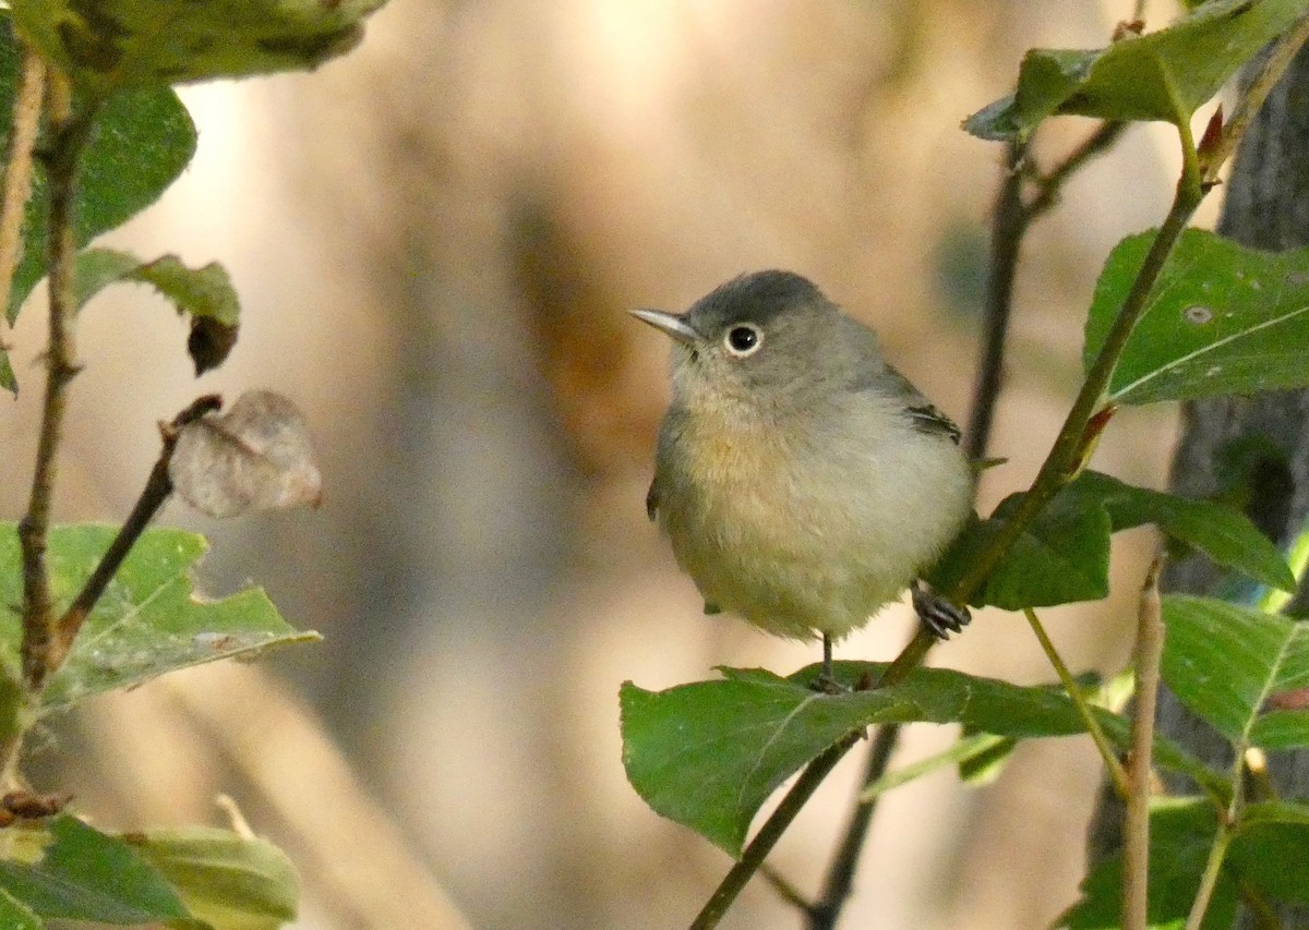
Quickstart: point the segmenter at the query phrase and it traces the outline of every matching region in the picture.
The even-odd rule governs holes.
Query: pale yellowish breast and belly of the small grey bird
[[[903,472],[876,450],[840,460],[740,436],[695,445],[699,460],[678,472],[696,480],[660,505],[678,564],[706,600],[779,636],[840,637],[863,625],[958,526],[940,517],[949,513],[940,500],[891,487],[884,474]]]

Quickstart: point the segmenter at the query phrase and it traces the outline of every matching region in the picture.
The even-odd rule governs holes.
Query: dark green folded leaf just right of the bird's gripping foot
[[[1022,502],[1011,494],[986,521],[974,521],[928,574],[949,591]],[[1220,565],[1274,587],[1295,590],[1285,560],[1255,526],[1213,501],[1147,491],[1084,471],[1024,531],[971,604],[1005,610],[1096,600],[1109,594],[1109,536],[1143,523],[1196,547]]]

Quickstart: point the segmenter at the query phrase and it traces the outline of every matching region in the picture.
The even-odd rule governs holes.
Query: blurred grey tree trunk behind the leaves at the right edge
[[[1219,232],[1236,242],[1283,251],[1309,245],[1309,47],[1301,50],[1282,84],[1251,124],[1228,183]],[[1305,347],[1309,364],[1309,347]],[[1232,450],[1241,450],[1238,456]],[[1250,398],[1213,398],[1186,404],[1183,434],[1173,459],[1172,489],[1207,497],[1230,475],[1224,460],[1240,460],[1249,493],[1246,514],[1279,544],[1299,535],[1309,513],[1309,391],[1280,391]],[[1169,591],[1213,594],[1224,572],[1203,557],[1172,564],[1162,586]],[[1301,586],[1297,603],[1305,600]],[[1230,747],[1164,689],[1158,729],[1210,764],[1232,763]],[[1270,757],[1282,797],[1309,797],[1309,752]],[[1183,781],[1170,790],[1189,790]],[[1106,799],[1093,831],[1092,855],[1118,845],[1121,808]],[[1309,910],[1284,912],[1283,926],[1309,927]],[[1254,926],[1244,913],[1240,927]]]

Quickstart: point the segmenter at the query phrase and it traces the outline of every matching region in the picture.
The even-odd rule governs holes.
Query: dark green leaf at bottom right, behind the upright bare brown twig
[[[1216,835],[1217,815],[1204,798],[1157,798],[1151,803],[1148,927],[1182,930]],[[1219,874],[1200,926],[1204,930],[1229,930],[1236,920],[1236,905],[1237,886],[1224,870]],[[1090,870],[1081,883],[1081,900],[1055,926],[1118,930],[1122,926],[1122,906],[1123,858],[1118,854]]]

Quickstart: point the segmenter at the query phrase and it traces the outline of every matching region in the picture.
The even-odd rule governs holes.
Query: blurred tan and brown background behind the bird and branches
[[[1151,27],[1174,13],[1147,10]],[[117,238],[226,264],[241,341],[196,383],[166,305],[130,289],[93,305],[59,514],[119,519],[156,420],[196,394],[289,394],[321,451],[321,510],[217,525],[170,505],[162,519],[211,538],[206,590],[257,581],[326,641],[259,666],[289,704],[221,668],[98,701],[51,734],[41,786],[67,785],[115,828],[220,823],[209,799],[230,793],[296,857],[301,927],[686,925],[729,862],[627,786],[618,687],[818,654],[704,617],[645,521],[668,347],[626,311],[792,268],[874,323],[962,420],[1001,152],[958,123],[1011,89],[1025,48],[1096,47],[1130,14],[1107,0],[393,0],[315,75],[186,89],[199,156]],[[1088,129],[1055,123],[1038,157]],[[992,450],[1011,460],[983,509],[1026,487],[1054,437],[1098,266],[1162,217],[1172,145],[1128,132],[1029,239]],[[25,387],[0,402],[8,517],[33,455],[39,317],[8,340]],[[1173,436],[1174,411],[1126,412],[1098,464],[1158,485]],[[1049,612],[1076,668],[1124,662],[1151,547],[1135,534],[1115,551],[1122,595]],[[889,658],[910,629],[888,610],[839,655]],[[1052,678],[1004,613],[933,661]],[[895,764],[952,736],[914,727]],[[859,765],[772,859],[806,892]],[[1089,744],[1062,740],[1022,747],[986,789],[945,772],[895,791],[843,926],[1045,926],[1075,897],[1098,777]],[[755,882],[724,926],[798,917]]]

